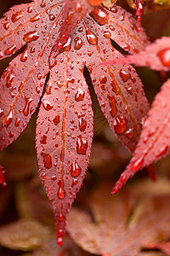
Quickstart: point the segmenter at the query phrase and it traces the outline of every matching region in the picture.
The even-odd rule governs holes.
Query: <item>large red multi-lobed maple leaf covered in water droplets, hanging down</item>
[[[131,151],[149,109],[133,67],[98,67],[109,55],[122,56],[111,45],[111,39],[132,54],[148,44],[144,32],[143,39],[139,38],[132,15],[118,6],[95,8],[78,22],[55,57],[50,53],[59,35],[63,11],[63,2],[38,0],[11,9],[0,27],[2,58],[26,46],[1,79],[2,148],[26,127],[49,73],[37,118],[37,158],[42,182],[54,207],[59,245],[65,235],[66,215],[88,168],[93,137],[93,113],[83,68],[88,67],[112,130]]]

